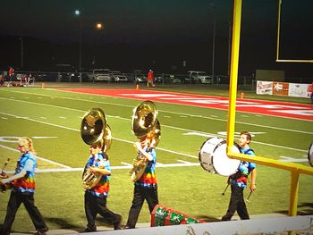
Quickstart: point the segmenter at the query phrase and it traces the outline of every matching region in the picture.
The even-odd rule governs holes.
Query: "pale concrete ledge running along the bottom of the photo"
[[[296,234],[313,235],[313,215],[286,216],[285,214],[250,215],[250,220],[241,221],[234,216],[230,222],[205,222],[163,227],[150,227],[149,222],[138,223],[136,229],[114,231],[112,226],[97,226],[96,232],[79,232],[73,230],[51,230],[47,235],[83,234],[83,235],[138,235],[138,234],[287,234],[287,231],[297,231]],[[30,233],[11,233],[25,235]]]

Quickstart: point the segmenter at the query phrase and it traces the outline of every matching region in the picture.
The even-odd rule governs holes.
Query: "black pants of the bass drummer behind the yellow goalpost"
[[[249,214],[247,206],[243,198],[243,189],[237,185],[231,185],[232,195],[229,202],[228,210],[223,216],[223,221],[230,221],[233,217],[233,214],[237,211],[238,215],[241,217],[241,220],[249,220]]]

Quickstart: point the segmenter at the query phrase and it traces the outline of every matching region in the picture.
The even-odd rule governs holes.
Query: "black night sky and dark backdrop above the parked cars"
[[[240,71],[282,69],[287,76],[313,77],[312,63],[275,63],[277,5],[242,0]],[[21,36],[24,69],[77,65],[81,33],[84,68],[96,60],[123,71],[154,66],[169,72],[181,71],[186,61],[188,69],[211,72],[216,15],[215,70],[227,74],[231,0],[11,0],[2,1],[1,9],[1,68],[21,67]],[[282,59],[313,59],[312,9],[309,0],[283,0]],[[104,29],[95,29],[98,21]]]

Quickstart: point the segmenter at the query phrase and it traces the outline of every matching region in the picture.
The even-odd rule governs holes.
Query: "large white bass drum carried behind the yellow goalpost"
[[[199,161],[207,172],[230,176],[237,172],[240,160],[229,158],[226,155],[226,140],[224,138],[207,138],[199,151]],[[233,146],[234,153],[240,153],[238,146]]]

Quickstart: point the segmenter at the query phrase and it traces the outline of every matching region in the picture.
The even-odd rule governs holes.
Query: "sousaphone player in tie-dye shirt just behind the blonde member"
[[[100,214],[107,222],[114,225],[114,230],[121,229],[121,214],[114,214],[106,207],[106,197],[109,192],[109,180],[111,175],[111,166],[106,153],[101,151],[101,144],[97,142],[90,146],[90,156],[86,164],[87,171],[96,174],[102,174],[101,180],[92,189],[85,191],[85,214],[87,217],[87,228],[85,231],[97,231],[96,216]]]

